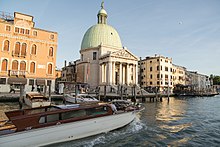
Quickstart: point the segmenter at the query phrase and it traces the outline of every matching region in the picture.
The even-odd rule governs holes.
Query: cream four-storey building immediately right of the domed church
[[[139,61],[140,86],[149,90],[157,88],[159,92],[172,92],[173,66],[172,58],[155,55]]]

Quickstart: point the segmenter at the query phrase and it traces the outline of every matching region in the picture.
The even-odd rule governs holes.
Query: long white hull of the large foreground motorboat
[[[121,128],[135,118],[126,112],[0,136],[0,146],[42,146],[80,139]]]

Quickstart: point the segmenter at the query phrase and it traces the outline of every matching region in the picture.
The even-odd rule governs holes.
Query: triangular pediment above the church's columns
[[[111,52],[111,57],[118,57],[118,58],[126,58],[130,60],[138,60],[138,58],[129,52],[127,49],[121,49],[119,51]]]

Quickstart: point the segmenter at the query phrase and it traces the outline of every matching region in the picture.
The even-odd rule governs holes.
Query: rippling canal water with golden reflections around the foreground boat
[[[145,110],[124,128],[48,147],[220,145],[220,95],[170,98],[143,106]],[[0,117],[2,111],[17,108],[16,103],[0,103]]]

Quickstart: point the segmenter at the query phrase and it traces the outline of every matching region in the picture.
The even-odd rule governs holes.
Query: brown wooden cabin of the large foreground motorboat
[[[112,115],[113,111],[109,104],[73,104],[16,110],[5,114],[18,132]]]

